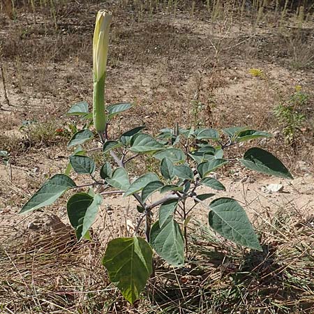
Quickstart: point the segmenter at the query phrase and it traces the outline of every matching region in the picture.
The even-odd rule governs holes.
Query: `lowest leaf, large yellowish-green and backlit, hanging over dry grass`
[[[153,251],[140,237],[117,238],[107,245],[103,265],[110,281],[133,304],[153,271]]]

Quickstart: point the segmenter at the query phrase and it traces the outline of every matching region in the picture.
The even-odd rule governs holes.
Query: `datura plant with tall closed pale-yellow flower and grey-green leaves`
[[[105,106],[111,20],[111,13],[103,10],[96,19],[93,112],[89,113],[89,106],[83,101],[73,105],[67,113],[86,122],[68,143],[72,151],[68,167],[64,173],[48,179],[24,204],[20,214],[47,207],[70,191],[72,195],[66,204],[68,219],[77,241],[87,241],[92,240],[89,230],[105,197],[114,194],[134,197],[138,216],[130,218],[137,221],[134,236],[113,239],[107,244],[103,256],[110,281],[133,303],[152,274],[153,250],[173,267],[183,267],[188,262],[188,223],[197,206],[206,210],[208,226],[218,237],[262,251],[241,205],[230,197],[217,196],[216,193],[224,191],[225,186],[215,179],[214,171],[239,163],[248,170],[276,177],[292,179],[292,176],[280,160],[258,147],[248,149],[242,158],[225,157],[225,149],[232,145],[271,137],[269,133],[247,127],[216,130],[176,125],[174,128],[163,128],[158,135],[152,136],[144,132],[145,126],[137,126],[111,138],[110,126],[114,124],[115,117],[132,107],[130,103]],[[91,148],[93,140],[95,148]],[[91,151],[98,149],[103,154],[100,164],[96,164],[91,157]],[[159,167],[156,172],[144,171],[134,179],[127,165],[144,155],[150,160],[155,159]],[[70,178],[73,172],[84,174],[89,179],[84,184],[76,184]]]

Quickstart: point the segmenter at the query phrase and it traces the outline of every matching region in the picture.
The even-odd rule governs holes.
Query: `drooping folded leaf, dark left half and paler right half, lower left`
[[[93,225],[102,202],[103,197],[100,194],[93,197],[87,193],[75,193],[68,200],[68,218],[75,230],[77,241],[80,241]]]

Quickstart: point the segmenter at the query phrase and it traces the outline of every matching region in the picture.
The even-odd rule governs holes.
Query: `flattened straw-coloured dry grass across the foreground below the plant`
[[[50,234],[34,227],[6,229],[1,309],[16,314],[312,313],[313,218],[283,209],[265,217],[255,226],[262,253],[219,239],[195,221],[186,267],[173,269],[156,260],[156,276],[134,306],[107,281],[97,241],[76,244],[72,230],[57,218]]]

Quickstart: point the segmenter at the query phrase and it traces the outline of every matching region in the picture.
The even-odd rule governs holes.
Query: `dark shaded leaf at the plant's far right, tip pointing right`
[[[255,170],[266,174],[271,174],[275,177],[293,179],[289,170],[281,163],[281,160],[276,158],[264,149],[253,147],[246,151],[244,158],[240,159],[242,165],[248,169]]]

